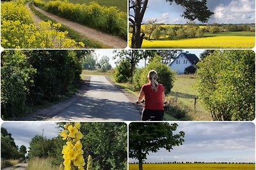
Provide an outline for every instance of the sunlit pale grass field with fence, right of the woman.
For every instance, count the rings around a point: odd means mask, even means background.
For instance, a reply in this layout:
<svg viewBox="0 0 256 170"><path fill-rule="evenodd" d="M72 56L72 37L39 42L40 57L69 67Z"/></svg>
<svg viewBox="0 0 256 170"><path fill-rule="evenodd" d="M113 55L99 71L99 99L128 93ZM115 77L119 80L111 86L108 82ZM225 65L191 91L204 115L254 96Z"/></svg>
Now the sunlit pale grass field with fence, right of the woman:
<svg viewBox="0 0 256 170"><path fill-rule="evenodd" d="M205 110L202 101L199 99L195 103L195 81L196 75L175 75L175 81L173 84L172 92L169 96L166 97L166 100L170 99L177 100L177 106L188 111L188 117L191 120L212 120L210 113Z"/></svg>

